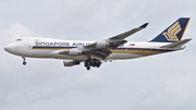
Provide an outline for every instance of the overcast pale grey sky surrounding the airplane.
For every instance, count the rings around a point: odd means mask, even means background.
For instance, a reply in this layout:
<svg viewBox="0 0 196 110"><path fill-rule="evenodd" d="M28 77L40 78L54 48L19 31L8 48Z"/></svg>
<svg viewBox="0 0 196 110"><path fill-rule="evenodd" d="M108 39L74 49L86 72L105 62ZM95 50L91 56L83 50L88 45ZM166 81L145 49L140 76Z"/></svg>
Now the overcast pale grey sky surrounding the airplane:
<svg viewBox="0 0 196 110"><path fill-rule="evenodd" d="M0 110L196 110L195 0L1 0ZM148 41L179 17L191 17L186 49L105 63L86 71L62 60L12 56L16 38L100 40L144 23L128 37Z"/></svg>

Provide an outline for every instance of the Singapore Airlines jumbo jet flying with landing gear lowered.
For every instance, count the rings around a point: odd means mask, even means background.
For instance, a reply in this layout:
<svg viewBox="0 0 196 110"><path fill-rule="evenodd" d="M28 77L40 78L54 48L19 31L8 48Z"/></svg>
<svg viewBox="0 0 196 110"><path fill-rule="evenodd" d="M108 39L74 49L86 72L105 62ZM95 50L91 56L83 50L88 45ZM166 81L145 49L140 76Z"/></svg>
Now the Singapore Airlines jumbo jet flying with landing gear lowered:
<svg viewBox="0 0 196 110"><path fill-rule="evenodd" d="M147 27L148 23L123 34L98 41L75 41L52 38L24 37L4 47L4 50L23 58L49 58L63 60L64 66L84 62L87 70L99 68L103 61L126 60L185 48L192 40L183 39L189 17L180 17L161 34L147 42L127 41L126 37Z"/></svg>

